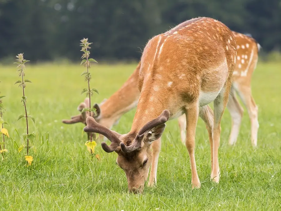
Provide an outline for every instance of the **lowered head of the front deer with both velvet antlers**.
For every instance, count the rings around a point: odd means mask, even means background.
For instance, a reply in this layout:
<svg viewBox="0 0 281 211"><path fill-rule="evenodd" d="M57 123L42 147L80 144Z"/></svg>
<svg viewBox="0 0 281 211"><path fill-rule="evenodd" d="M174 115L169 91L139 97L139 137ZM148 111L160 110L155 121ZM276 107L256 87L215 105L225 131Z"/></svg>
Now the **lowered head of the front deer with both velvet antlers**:
<svg viewBox="0 0 281 211"><path fill-rule="evenodd" d="M151 165L150 145L161 137L166 127L170 112L164 110L157 118L146 123L138 133L121 135L95 121L92 117L86 118L85 132L100 133L111 141L108 146L105 142L101 147L107 153L115 151L118 154L116 163L125 171L130 192L142 192L148 178Z"/></svg>

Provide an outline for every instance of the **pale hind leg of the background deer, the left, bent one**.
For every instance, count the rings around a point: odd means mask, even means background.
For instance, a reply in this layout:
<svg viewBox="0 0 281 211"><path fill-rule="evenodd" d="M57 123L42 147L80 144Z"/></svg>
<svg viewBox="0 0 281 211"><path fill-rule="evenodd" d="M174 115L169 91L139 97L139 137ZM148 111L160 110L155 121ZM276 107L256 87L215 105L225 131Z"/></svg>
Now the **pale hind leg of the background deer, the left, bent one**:
<svg viewBox="0 0 281 211"><path fill-rule="evenodd" d="M236 93L234 88L231 88L231 92L229 94L229 100L227 103L227 108L229 110L231 119L232 119L232 126L231 126L231 132L229 136L229 144L234 145L237 141L237 137L239 134L239 129L242 121L243 116L243 108L239 104Z"/></svg>

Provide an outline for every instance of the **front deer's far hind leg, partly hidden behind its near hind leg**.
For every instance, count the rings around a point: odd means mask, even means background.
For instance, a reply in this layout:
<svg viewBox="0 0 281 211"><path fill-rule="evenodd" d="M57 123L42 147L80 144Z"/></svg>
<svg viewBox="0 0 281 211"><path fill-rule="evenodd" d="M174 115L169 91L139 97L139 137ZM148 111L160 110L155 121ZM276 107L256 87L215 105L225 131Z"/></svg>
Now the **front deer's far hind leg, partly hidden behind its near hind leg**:
<svg viewBox="0 0 281 211"><path fill-rule="evenodd" d="M200 118L205 122L206 128L209 134L210 148L211 148L211 172L213 171L213 138L212 138L212 127L214 122L214 112L210 106L205 105L200 108Z"/></svg>

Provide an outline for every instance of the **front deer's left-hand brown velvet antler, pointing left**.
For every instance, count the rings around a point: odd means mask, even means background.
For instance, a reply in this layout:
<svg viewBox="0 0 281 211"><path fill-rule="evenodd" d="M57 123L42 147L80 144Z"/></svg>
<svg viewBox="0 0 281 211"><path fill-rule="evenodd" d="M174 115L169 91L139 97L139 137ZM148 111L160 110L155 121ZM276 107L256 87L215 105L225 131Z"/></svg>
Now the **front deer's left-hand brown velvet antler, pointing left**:
<svg viewBox="0 0 281 211"><path fill-rule="evenodd" d="M111 153L119 147L120 139L117 136L120 136L119 133L113 132L112 130L100 125L95 121L92 117L86 118L86 124L87 126L84 127L84 131L88 133L100 133L101 135L104 135L106 138L108 138L111 141L111 144L108 146L105 142L101 143L101 147L104 151L107 153Z"/></svg>

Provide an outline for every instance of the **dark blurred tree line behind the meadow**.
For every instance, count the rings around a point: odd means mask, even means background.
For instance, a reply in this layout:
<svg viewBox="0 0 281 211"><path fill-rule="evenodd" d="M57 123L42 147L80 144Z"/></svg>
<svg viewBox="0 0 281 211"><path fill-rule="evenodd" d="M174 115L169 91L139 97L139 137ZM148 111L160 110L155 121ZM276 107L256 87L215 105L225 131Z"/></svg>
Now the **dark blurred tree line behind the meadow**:
<svg viewBox="0 0 281 211"><path fill-rule="evenodd" d="M199 16L281 48L280 0L0 0L0 59L78 61L84 37L93 58L139 59L149 38Z"/></svg>

